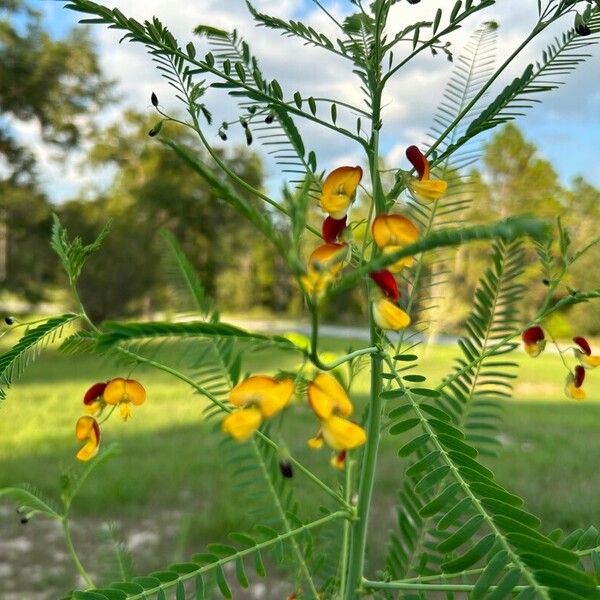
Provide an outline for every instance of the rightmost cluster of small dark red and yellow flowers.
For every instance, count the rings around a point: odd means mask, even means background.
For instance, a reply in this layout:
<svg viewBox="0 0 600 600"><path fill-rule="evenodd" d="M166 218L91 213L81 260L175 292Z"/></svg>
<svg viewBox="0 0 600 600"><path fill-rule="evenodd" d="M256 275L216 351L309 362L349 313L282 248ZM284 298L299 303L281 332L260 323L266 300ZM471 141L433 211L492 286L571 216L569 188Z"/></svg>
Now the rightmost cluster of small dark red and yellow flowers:
<svg viewBox="0 0 600 600"><path fill-rule="evenodd" d="M525 352L533 358L539 356L546 348L546 334L539 325L528 327L523 332L521 339L523 340ZM573 354L579 364L574 369L571 369L567 366L563 357L563 362L568 369L565 380L565 394L573 400L585 400L586 393L583 389L583 383L586 378L586 372L600 365L600 356L592 354L592 348L584 337L574 337L573 342L575 346L572 346L570 349L573 350ZM561 357L566 352L566 350L561 350L558 346L557 349Z"/></svg>

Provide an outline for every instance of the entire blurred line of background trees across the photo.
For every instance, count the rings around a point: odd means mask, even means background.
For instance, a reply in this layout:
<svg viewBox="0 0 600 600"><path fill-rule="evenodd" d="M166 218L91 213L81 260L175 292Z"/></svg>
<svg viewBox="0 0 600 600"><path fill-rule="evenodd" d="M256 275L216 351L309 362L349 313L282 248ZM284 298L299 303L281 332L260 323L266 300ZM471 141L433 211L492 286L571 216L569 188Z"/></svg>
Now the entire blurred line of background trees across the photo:
<svg viewBox="0 0 600 600"><path fill-rule="evenodd" d="M85 29L55 39L26 2L0 0L0 64L0 299L62 301L62 271L48 247L54 212L73 234L87 240L112 220L102 252L80 282L96 319L182 308L164 264L161 229L180 240L207 291L225 310L301 313L302 297L283 261L170 150L148 137L153 125L149 115L130 110L103 128L86 118L113 102L115 90L101 72ZM68 153L85 137L91 142L87 166L102 177L114 174L110 184L53 205L38 181L31 149L12 135L14 119L36 122L58 153ZM168 134L195 145L184 129L173 126ZM264 186L263 165L255 152L246 147L221 152L236 173L256 188ZM583 177L563 185L553 165L515 125L489 141L468 179L473 197L469 217L475 222L523 212L550 219L560 214L576 242L584 244L597 235L600 190ZM312 210L316 219L317 207ZM456 330L466 318L487 251L485 245L470 245L447 257L439 328ZM525 310L533 314L544 287L532 249L529 258ZM594 268L598 258L594 250L576 264L570 282L574 289L600 284ZM347 320L365 308L360 291L332 298L327 307L331 318ZM573 308L555 323L557 333L568 334L569 326L599 333L600 319L589 313L589 308Z"/></svg>

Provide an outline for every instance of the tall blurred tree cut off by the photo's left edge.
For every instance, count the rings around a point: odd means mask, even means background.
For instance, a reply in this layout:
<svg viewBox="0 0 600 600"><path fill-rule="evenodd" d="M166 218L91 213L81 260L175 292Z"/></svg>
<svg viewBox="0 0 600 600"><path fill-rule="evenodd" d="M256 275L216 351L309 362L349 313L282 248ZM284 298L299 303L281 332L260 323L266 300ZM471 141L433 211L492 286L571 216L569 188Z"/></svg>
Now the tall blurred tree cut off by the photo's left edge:
<svg viewBox="0 0 600 600"><path fill-rule="evenodd" d="M36 181L31 148L15 138L12 124L35 123L46 142L66 151L111 86L85 29L53 39L23 0L0 0L0 65L0 285L37 301L57 278L48 251L52 207Z"/></svg>

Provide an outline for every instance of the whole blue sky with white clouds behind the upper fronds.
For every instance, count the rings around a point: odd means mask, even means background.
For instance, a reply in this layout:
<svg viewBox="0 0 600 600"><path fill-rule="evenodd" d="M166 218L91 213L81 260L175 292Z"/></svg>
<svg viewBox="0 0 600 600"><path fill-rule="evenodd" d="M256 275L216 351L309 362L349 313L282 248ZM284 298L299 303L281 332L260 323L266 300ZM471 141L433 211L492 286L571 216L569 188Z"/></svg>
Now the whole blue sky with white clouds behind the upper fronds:
<svg viewBox="0 0 600 600"><path fill-rule="evenodd" d="M324 0L323 4L339 20L353 9L349 0ZM391 27L399 29L417 19L431 19L438 6L448 4L449 0L424 0L418 5L399 2L391 15ZM493 19L500 25L497 62L504 61L534 24L536 4L533 0L498 0L492 9L479 13L453 34L450 39L455 53L460 53L469 35L483 20ZM77 25L79 16L65 10L62 2L33 0L33 5L44 12L47 26L57 36L64 35L73 26L80 26ZM300 90L303 94L315 97L336 96L356 106L362 103L359 82L345 62L329 53L303 47L298 40L282 37L278 32L257 28L243 0L110 0L109 5L139 21L158 16L182 43L194 39L192 30L200 23L228 30L235 27L250 43L263 71L281 83L286 96ZM336 36L337 26L318 9L314 0L255 0L254 5L263 12L281 18L302 18L315 29ZM563 21L555 30L546 32L542 39L532 43L506 71L491 95L519 75L529 62L535 61L551 37L567 29L571 22L570 18ZM158 94L162 105L176 110L173 90L161 80L143 47L130 43L119 44L119 33L102 25L94 25L92 33L104 71L117 81L117 92L121 98L118 106L97 115L98 120L108 124L118 119L121 111L127 107L151 112L149 98L153 91ZM201 42L199 45L201 47ZM400 46L398 54L405 52L406 48ZM527 138L539 147L540 154L553 162L565 184L576 175L584 175L600 186L600 45L592 47L589 54L588 61L576 73L567 76L567 85L544 94L544 102L520 118L518 125ZM433 57L429 53L422 53L392 82L384 98L381 146L390 166L406 168L404 148L413 143L423 145L426 142L427 131L451 71L452 65L443 55ZM212 90L207 97L217 122L235 115L234 105L224 100L221 92ZM344 118L344 115L340 117L342 122ZM350 122L354 123L354 119ZM312 124L299 122L298 125L306 146L314 149L319 156L322 169L364 162L360 148L347 139L336 137ZM13 122L12 127L21 139L35 145L41 182L54 201L60 202L78 193L85 195L96 187L109 184L110 172L83 170L81 156L74 156L67 161L56 160L52 150L40 143L33 124ZM210 133L212 139L218 141L216 130ZM233 141L236 141L235 135ZM239 140L242 140L241 135ZM149 140L148 143L153 142ZM258 148L257 145L254 147ZM267 167L269 187L279 187L281 174L269 162Z"/></svg>

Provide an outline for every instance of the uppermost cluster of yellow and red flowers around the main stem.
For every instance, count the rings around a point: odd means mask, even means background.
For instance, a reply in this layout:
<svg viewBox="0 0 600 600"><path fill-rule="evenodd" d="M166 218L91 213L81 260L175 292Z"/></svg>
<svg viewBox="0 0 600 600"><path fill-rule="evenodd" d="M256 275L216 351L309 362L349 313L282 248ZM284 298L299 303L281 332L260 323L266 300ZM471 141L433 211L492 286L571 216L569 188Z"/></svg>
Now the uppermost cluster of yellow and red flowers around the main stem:
<svg viewBox="0 0 600 600"><path fill-rule="evenodd" d="M415 168L418 178L408 177L406 186L420 202L441 198L447 183L432 179L427 157L416 147L410 146L406 156ZM314 300L321 299L327 288L341 273L350 251L344 241L348 210L356 195L362 178L360 167L340 167L332 171L323 183L320 206L328 213L323 222L322 236L325 244L310 255L306 274L301 277L304 291ZM414 223L399 214L380 214L371 225L373 242L383 255L395 254L414 244L419 232ZM374 271L371 279L382 295L373 304L373 318L382 329L399 331L410 325L409 315L398 305L400 291L394 275L412 266L412 257L403 257L382 271Z"/></svg>

